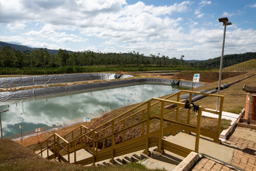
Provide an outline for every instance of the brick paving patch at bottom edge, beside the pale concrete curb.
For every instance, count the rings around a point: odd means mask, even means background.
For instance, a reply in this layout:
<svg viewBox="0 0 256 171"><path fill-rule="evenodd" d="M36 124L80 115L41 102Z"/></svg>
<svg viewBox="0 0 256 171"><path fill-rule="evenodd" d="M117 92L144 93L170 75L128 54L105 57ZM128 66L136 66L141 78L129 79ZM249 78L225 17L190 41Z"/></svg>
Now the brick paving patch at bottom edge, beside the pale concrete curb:
<svg viewBox="0 0 256 171"><path fill-rule="evenodd" d="M197 163L194 168L190 169L191 171L231 171L234 170L232 168L229 168L223 164L217 163L214 160L211 160L209 158L202 158L199 163Z"/></svg>

